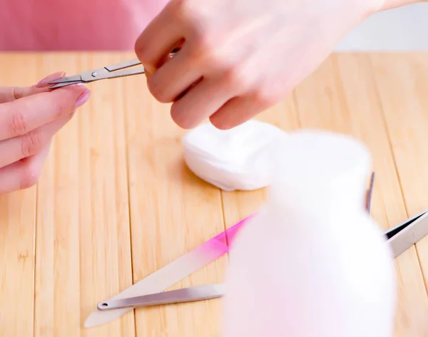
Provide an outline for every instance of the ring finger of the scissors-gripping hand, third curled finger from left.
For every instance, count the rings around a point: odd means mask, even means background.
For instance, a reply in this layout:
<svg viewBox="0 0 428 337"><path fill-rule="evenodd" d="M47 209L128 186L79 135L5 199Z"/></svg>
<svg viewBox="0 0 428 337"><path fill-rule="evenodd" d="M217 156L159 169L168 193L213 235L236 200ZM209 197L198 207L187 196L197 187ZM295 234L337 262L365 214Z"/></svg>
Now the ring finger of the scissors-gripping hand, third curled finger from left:
<svg viewBox="0 0 428 337"><path fill-rule="evenodd" d="M231 99L232 90L225 79L203 79L171 106L171 117L183 129L191 129Z"/></svg>

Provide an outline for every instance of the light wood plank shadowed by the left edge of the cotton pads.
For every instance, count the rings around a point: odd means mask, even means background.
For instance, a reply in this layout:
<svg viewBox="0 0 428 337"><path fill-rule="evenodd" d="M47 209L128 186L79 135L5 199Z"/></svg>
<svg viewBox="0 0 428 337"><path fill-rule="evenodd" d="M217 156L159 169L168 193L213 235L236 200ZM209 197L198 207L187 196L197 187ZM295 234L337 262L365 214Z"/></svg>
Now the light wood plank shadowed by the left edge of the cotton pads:
<svg viewBox="0 0 428 337"><path fill-rule="evenodd" d="M143 78L123 81L127 122L133 281L224 231L220 191L185 167L181 136L162 106L144 90ZM136 99L138 98L138 99ZM223 279L226 257L178 286ZM220 300L136 309L137 336L218 336Z"/></svg>

